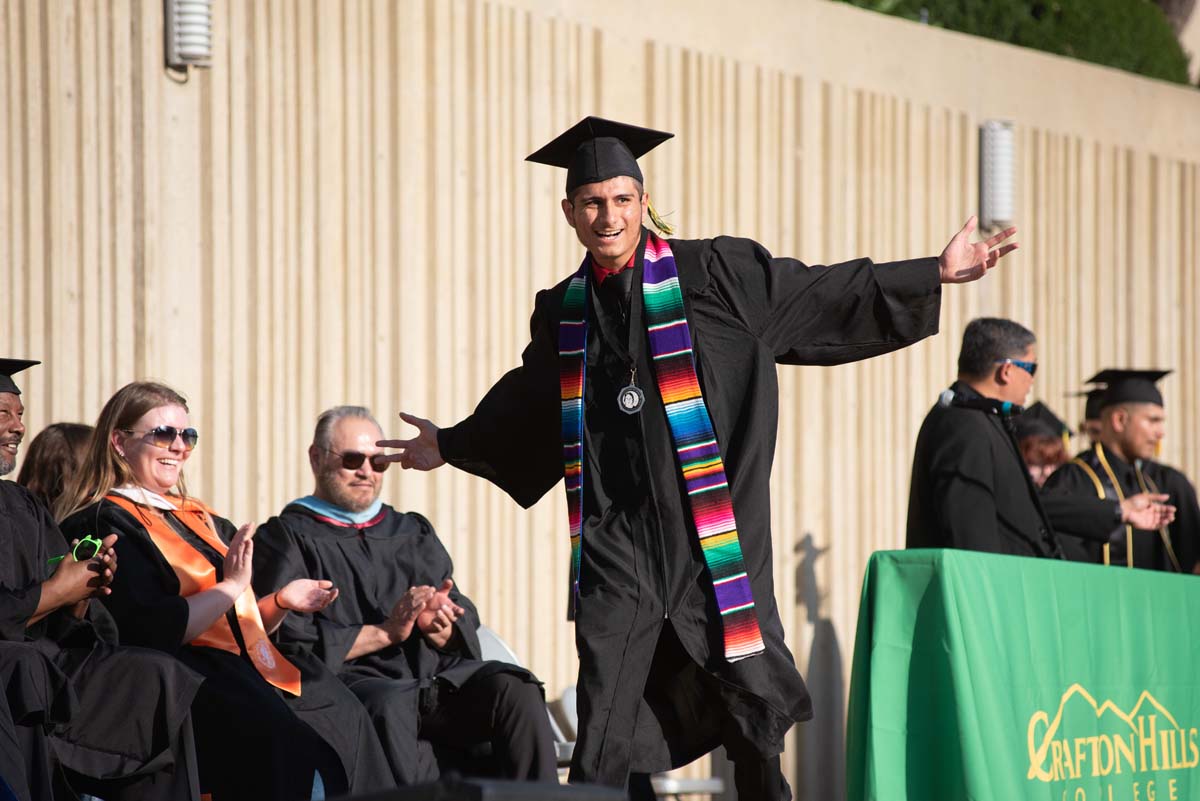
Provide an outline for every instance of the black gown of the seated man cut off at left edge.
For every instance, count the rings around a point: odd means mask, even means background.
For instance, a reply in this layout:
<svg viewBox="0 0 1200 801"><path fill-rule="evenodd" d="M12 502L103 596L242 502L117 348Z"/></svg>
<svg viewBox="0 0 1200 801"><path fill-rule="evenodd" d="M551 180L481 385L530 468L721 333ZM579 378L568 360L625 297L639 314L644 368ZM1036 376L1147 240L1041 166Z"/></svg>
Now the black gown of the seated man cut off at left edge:
<svg viewBox="0 0 1200 801"><path fill-rule="evenodd" d="M34 763L20 797L47 797L50 763L76 790L106 799L197 797L188 709L200 676L161 654L102 642L97 632L113 626L95 601L84 620L59 610L28 626L48 559L66 550L46 506L0 481L0 682Z"/></svg>

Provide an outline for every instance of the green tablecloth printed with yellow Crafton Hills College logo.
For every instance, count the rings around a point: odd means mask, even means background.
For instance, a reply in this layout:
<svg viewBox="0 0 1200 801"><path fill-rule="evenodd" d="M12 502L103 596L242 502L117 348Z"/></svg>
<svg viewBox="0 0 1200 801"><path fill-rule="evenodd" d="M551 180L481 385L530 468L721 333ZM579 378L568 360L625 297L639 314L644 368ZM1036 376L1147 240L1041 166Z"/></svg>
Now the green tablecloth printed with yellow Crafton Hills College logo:
<svg viewBox="0 0 1200 801"><path fill-rule="evenodd" d="M1200 801L1200 577L871 556L847 795Z"/></svg>

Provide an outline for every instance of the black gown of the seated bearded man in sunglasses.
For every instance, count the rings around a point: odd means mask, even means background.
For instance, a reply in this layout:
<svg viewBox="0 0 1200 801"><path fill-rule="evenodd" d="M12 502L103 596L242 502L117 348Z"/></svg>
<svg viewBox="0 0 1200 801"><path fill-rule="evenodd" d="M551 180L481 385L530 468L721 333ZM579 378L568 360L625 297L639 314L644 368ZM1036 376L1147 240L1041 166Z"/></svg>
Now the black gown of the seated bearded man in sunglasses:
<svg viewBox="0 0 1200 801"><path fill-rule="evenodd" d="M383 624L409 588L439 586L452 577L454 562L433 525L388 505L367 524L342 525L290 504L254 536L257 592L275 592L296 578L329 579L338 589L337 601L320 613L288 615L276 639L284 654L305 652L324 662L359 695L402 784L436 779L439 759L470 772L469 759L456 760L456 754L443 751L470 743L454 742L452 733L439 731L436 749L428 733L421 731L421 718L437 707L439 692L455 692L472 679L497 673L538 683L523 668L481 660L479 613L457 584L450 598L464 612L446 650L416 636L346 658L362 626ZM544 718L540 692L534 695Z"/></svg>

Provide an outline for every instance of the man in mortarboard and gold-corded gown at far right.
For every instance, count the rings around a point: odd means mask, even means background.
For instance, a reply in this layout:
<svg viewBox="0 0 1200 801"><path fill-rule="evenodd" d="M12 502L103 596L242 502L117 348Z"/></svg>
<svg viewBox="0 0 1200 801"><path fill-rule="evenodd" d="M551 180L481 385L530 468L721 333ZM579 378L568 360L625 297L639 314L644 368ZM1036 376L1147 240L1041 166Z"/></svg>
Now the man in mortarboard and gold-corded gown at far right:
<svg viewBox="0 0 1200 801"><path fill-rule="evenodd" d="M1097 373L1088 383L1106 385L1099 401L1099 440L1050 476L1045 493L1115 500L1148 493L1144 496L1174 507L1174 520L1153 530L1117 524L1105 543L1064 538L1068 558L1184 573L1195 568L1200 555L1195 489L1174 468L1151 462L1166 421L1157 383L1169 373L1136 369Z"/></svg>

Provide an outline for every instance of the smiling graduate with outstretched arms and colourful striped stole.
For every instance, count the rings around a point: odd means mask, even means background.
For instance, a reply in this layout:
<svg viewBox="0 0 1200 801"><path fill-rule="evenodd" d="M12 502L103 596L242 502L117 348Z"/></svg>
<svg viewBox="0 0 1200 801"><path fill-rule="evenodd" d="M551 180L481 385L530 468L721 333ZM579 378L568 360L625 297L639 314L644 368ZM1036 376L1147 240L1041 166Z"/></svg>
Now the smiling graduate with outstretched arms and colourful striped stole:
<svg viewBox="0 0 1200 801"><path fill-rule="evenodd" d="M768 480L776 363L839 365L937 331L941 284L982 277L1014 233L941 257L809 266L757 242L666 240L636 158L672 134L588 118L529 156L566 168L587 249L539 293L522 365L458 424L419 427L406 468L446 462L532 506L565 477L580 656L572 782L653 797L649 773L724 745L743 799L787 799L784 735L812 715L784 643Z"/></svg>

